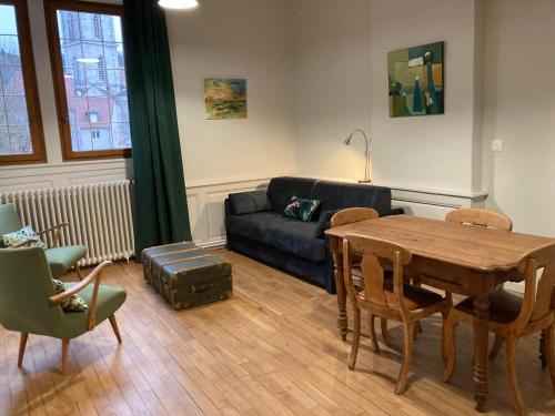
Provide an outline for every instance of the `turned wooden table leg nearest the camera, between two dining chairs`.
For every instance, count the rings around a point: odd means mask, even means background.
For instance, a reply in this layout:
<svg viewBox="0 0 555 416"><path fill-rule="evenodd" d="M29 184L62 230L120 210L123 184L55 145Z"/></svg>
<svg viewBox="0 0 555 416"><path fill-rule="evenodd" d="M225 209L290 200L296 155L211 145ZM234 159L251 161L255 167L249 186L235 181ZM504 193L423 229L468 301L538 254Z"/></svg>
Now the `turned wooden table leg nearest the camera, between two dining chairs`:
<svg viewBox="0 0 555 416"><path fill-rule="evenodd" d="M487 402L487 337L490 334L490 297L474 297L474 400L476 410L485 412Z"/></svg>

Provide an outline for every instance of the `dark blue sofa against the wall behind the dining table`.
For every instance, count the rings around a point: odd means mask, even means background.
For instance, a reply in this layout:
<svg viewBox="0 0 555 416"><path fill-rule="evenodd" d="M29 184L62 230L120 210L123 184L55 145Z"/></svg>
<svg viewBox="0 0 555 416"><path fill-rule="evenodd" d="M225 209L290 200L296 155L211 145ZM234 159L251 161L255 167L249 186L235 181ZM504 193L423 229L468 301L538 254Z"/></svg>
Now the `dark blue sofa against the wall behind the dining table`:
<svg viewBox="0 0 555 416"><path fill-rule="evenodd" d="M321 201L315 221L283 215L292 196ZM389 187L274 177L266 190L230 194L225 200L228 248L287 271L335 293L333 260L324 231L332 215L345 207L370 206L381 216L392 210Z"/></svg>

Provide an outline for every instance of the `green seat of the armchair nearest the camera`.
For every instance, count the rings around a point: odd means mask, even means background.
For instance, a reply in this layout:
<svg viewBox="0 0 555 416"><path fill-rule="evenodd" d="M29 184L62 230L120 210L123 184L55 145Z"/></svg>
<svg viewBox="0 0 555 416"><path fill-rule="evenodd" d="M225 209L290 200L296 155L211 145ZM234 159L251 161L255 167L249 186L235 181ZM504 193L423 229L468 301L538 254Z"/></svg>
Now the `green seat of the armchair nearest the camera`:
<svg viewBox="0 0 555 416"><path fill-rule="evenodd" d="M67 288L75 285L75 282L65 283ZM94 285L89 285L81 292L79 296L90 306L92 302L92 291ZM100 285L99 294L97 297L97 325L105 321L109 316L113 315L125 302L127 293L123 288ZM88 331L89 311L85 312L65 312L64 323L61 327L57 328L56 336L62 339L75 338Z"/></svg>

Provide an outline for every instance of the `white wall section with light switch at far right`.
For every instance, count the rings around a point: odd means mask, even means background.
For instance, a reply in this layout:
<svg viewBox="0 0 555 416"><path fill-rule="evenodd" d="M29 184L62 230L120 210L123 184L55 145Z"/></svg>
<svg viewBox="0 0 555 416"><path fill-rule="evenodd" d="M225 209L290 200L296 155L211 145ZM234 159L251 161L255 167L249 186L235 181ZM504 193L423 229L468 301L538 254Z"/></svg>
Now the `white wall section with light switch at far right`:
<svg viewBox="0 0 555 416"><path fill-rule="evenodd" d="M555 235L555 2L487 0L484 184L515 230ZM493 153L491 141L503 140Z"/></svg>

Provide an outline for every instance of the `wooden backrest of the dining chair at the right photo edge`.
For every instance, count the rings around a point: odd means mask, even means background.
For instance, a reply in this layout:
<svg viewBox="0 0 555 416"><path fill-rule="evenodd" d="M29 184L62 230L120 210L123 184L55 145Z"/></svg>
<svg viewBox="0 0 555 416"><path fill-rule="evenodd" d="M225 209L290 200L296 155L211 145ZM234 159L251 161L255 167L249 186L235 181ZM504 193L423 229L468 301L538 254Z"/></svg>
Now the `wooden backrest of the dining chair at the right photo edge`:
<svg viewBox="0 0 555 416"><path fill-rule="evenodd" d="M531 251L521 258L519 267L524 270L524 301L521 314L515 321L519 329L529 322L542 319L554 313L552 303L555 287L554 266L555 243ZM542 274L537 281L539 270Z"/></svg>

